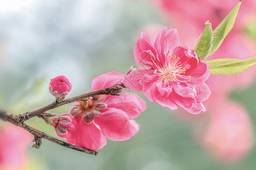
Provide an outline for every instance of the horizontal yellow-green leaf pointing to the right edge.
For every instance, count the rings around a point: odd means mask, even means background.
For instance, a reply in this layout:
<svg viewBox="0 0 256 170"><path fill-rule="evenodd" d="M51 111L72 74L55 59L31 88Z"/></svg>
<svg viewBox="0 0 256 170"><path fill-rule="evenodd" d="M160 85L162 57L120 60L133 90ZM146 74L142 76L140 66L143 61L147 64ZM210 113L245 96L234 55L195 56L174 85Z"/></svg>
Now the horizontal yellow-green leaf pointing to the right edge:
<svg viewBox="0 0 256 170"><path fill-rule="evenodd" d="M256 57L240 60L234 58L219 58L207 61L210 66L210 74L233 75L241 73L256 63Z"/></svg>

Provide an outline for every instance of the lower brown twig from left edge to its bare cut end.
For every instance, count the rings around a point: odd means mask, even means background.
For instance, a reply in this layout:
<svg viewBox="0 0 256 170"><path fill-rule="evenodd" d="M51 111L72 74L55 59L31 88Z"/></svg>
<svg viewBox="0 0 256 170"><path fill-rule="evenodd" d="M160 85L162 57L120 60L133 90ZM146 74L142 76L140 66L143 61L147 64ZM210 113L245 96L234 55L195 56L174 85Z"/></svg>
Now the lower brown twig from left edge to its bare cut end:
<svg viewBox="0 0 256 170"><path fill-rule="evenodd" d="M51 141L53 143L56 143L57 145L64 146L67 148L71 148L72 150L84 152L85 154L90 155L97 155L97 151L88 150L86 148L81 148L75 145L71 145L67 142L60 141L59 139L53 138L50 135L43 133L40 130L37 130L35 128L32 128L31 126L26 125L24 122L19 121L19 116L11 113L7 113L5 110L0 108L0 119L3 121L10 122L11 124L15 126L19 126L20 128L23 128L27 130L29 133L34 135L34 141L35 144L32 146L34 148L40 148L40 145L42 145L42 138L47 139L48 141Z"/></svg>

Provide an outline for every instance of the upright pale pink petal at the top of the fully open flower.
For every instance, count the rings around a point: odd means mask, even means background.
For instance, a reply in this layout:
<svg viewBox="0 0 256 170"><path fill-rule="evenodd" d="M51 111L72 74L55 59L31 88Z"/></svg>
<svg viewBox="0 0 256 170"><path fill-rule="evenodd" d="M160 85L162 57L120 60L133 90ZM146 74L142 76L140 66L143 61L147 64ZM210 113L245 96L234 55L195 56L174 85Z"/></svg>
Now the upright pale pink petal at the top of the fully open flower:
<svg viewBox="0 0 256 170"><path fill-rule="evenodd" d="M166 63L168 57L168 50L172 53L176 46L179 46L179 34L177 29L169 29L167 27L163 28L155 39L154 46L158 53L160 63Z"/></svg>

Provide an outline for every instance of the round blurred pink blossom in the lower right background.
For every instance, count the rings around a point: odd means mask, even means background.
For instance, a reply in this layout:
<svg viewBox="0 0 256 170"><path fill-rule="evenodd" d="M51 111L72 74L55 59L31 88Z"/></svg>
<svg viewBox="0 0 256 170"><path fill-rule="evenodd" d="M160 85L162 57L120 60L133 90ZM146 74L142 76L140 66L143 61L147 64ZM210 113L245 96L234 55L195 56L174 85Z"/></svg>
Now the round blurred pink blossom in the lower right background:
<svg viewBox="0 0 256 170"><path fill-rule="evenodd" d="M209 123L200 128L200 145L221 162L243 158L253 146L251 121L245 109L225 102L211 112Z"/></svg>

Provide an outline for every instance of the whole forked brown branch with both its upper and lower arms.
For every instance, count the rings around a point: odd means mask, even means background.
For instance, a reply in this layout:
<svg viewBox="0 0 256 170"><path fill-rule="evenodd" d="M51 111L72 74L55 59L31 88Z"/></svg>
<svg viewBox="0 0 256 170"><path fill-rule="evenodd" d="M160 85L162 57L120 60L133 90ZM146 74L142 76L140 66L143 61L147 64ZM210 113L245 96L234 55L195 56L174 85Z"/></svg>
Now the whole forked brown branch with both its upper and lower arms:
<svg viewBox="0 0 256 170"><path fill-rule="evenodd" d="M24 123L24 121L26 121L32 117L38 116L38 117L43 117L44 121L48 122L46 116L51 117L53 114L45 113L46 111L60 107L61 105L65 105L65 104L73 103L75 101L80 101L82 99L86 99L87 97L92 97L92 96L97 96L97 95L119 96L122 93L123 88L126 88L123 85L123 83L116 84L115 86L106 87L106 88L92 91L92 92L85 92L81 95L70 97L68 99L61 101L60 103L57 103L57 101L55 101L51 104L46 105L45 107L36 109L35 111L18 114L18 115L7 113L5 110L0 108L0 119L2 119L3 121L10 122L11 124L13 124L15 126L19 126L20 128L23 128L23 129L27 130L29 133L31 133L32 135L34 135L33 142L35 142L35 144L32 146L34 148L40 148L40 146L42 145L42 138L44 138L44 139L47 139L48 141L56 143L57 145L60 145L60 146L71 148L73 150L84 152L86 154L97 155L98 154L97 151L88 150L86 148L81 148L81 147L78 147L75 145L71 145L67 142L60 141L59 139L53 138L50 135L43 133L42 131L40 131L38 129L28 126L27 124ZM51 122L48 122L48 124L51 124Z"/></svg>

